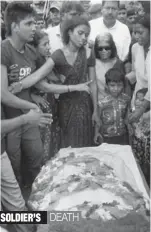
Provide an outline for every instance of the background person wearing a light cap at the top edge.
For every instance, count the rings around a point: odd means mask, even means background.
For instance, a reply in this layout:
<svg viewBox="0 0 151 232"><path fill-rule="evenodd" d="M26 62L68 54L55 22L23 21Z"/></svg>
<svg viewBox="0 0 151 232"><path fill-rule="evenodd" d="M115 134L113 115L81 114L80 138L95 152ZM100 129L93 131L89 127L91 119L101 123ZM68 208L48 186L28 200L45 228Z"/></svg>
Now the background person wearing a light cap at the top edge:
<svg viewBox="0 0 151 232"><path fill-rule="evenodd" d="M49 17L47 21L47 28L55 27L60 23L60 9L61 3L54 1L50 5Z"/></svg>

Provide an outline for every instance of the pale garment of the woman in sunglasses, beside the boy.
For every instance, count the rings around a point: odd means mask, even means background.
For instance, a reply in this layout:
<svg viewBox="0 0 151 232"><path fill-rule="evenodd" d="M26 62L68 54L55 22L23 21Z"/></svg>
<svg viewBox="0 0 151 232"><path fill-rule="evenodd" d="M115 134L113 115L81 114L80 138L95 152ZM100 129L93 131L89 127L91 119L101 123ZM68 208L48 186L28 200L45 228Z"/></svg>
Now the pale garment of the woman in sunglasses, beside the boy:
<svg viewBox="0 0 151 232"><path fill-rule="evenodd" d="M111 69L114 66L115 62L115 59L109 62L102 62L101 60L96 59L95 68L98 87L98 101L101 101L101 99L105 96L105 74L109 69Z"/></svg>

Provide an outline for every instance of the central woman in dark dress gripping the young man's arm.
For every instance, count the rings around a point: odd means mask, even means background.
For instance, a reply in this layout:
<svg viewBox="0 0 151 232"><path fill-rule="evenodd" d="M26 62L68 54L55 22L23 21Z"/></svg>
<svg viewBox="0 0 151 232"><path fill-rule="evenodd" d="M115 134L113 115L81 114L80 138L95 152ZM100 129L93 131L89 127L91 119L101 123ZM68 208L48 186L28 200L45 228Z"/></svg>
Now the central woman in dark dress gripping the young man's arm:
<svg viewBox="0 0 151 232"><path fill-rule="evenodd" d="M64 47L56 50L39 70L21 83L23 89L29 88L35 79L38 81L47 76L53 68L66 77L63 87L67 86L67 91L59 97L62 147L92 146L92 124L98 123L95 57L93 51L85 48L89 33L90 25L85 18L75 16L66 19L62 24ZM88 82L91 95L82 88L73 91L74 86L88 80L92 81Z"/></svg>

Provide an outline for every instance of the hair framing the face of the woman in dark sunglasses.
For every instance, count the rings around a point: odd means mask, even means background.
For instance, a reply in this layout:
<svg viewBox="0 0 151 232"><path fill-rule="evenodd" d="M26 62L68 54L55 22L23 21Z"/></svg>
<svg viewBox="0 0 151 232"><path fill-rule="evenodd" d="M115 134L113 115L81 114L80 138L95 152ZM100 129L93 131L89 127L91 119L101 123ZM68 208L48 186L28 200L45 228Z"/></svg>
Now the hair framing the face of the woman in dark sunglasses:
<svg viewBox="0 0 151 232"><path fill-rule="evenodd" d="M110 44L111 47L111 59L114 57L117 57L117 49L113 40L113 37L110 33L106 33L106 35L108 35L108 43ZM105 35L104 35L105 36ZM94 52L95 52L95 57L97 59L100 59L100 55L99 55L99 51L98 51L98 47L99 47L99 38L100 35L98 35L95 39L95 43L94 43Z"/></svg>

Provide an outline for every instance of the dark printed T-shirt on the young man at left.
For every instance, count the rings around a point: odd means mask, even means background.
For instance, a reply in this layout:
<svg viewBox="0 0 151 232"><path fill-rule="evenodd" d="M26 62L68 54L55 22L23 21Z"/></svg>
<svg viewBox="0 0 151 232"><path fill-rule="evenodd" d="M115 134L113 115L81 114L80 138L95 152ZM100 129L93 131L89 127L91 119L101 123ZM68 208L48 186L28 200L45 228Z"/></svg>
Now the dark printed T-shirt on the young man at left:
<svg viewBox="0 0 151 232"><path fill-rule="evenodd" d="M10 68L12 65L18 65L19 69L19 78L18 81L21 81L31 73L36 70L36 60L37 52L29 44L25 45L24 53L18 52L10 43L8 39L2 41L1 43L1 64L7 67L7 73L10 73ZM10 81L8 76L8 85L13 83ZM19 98L22 98L27 101L32 101L30 97L30 89L22 90L17 94ZM5 107L6 117L13 118L21 115L24 110L19 110L11 107Z"/></svg>

